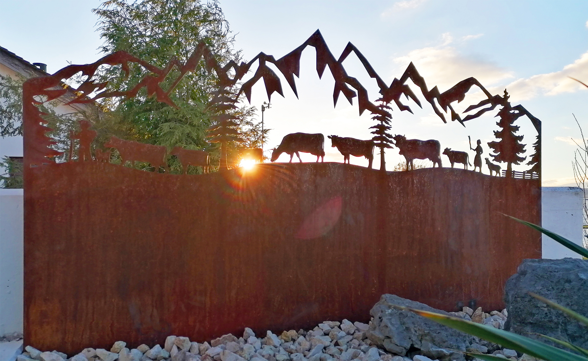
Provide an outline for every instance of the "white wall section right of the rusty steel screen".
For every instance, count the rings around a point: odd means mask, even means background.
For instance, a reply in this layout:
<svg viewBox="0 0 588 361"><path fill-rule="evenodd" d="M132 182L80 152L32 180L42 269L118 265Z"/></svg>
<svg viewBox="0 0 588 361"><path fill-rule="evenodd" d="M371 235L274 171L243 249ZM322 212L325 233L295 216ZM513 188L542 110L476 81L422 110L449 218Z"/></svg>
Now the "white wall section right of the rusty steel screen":
<svg viewBox="0 0 588 361"><path fill-rule="evenodd" d="M582 203L584 193L578 187L543 187L541 206L543 228L582 246ZM580 255L542 236L543 258L581 258Z"/></svg>

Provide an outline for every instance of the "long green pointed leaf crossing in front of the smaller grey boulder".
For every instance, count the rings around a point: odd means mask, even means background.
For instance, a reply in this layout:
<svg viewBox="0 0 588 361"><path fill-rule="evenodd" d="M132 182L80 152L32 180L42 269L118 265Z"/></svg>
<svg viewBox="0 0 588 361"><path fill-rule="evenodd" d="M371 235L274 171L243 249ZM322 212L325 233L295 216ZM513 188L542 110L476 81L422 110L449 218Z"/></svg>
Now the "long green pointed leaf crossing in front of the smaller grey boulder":
<svg viewBox="0 0 588 361"><path fill-rule="evenodd" d="M477 336L481 339L502 345L503 347L537 357L538 359L546 361L588 361L588 357L576 355L575 353L546 345L545 343L530 339L529 337L517 335L516 333L495 329L492 326L481 325L480 323L466 321L456 317L445 316L439 313L412 309L409 307L396 307L398 309L414 312L417 315L426 317L427 319L433 320L442 325L452 327L453 329L469 333L469 335Z"/></svg>

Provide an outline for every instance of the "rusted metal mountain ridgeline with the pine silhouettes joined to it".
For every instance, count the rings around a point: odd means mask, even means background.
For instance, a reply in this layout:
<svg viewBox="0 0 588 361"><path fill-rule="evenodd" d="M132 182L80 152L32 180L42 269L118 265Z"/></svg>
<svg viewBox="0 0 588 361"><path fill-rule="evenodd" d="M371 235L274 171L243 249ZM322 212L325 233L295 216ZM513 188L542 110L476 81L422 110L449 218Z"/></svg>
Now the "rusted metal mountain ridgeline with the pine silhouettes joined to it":
<svg viewBox="0 0 588 361"><path fill-rule="evenodd" d="M340 93L343 93L350 103L352 103L353 98L358 97L359 114L361 115L363 111L367 109L374 115L374 119L380 121L380 124L372 127L372 129L376 129L373 131L373 133L375 133L374 138L378 138L379 140L377 141L382 142L380 144L382 169L385 169L383 150L385 148L389 148L391 143L386 141L386 139L389 140L390 138L386 133L386 131L390 129L390 125L389 123L386 123L386 120L389 121L389 119L392 118L389 112L389 110L392 110L392 108L390 108L388 104L390 102L394 102L401 111L412 112L409 106L403 104L400 101L400 96L405 95L407 98L412 99L417 103L417 105L422 107L419 99L406 83L409 79L420 88L420 91L425 97L426 101L430 103L437 116L439 116L443 122L447 122L446 115L443 112L449 112L450 119L452 119L452 121L459 121L463 125L464 122L477 118L482 113L490 109L494 109L496 105L501 104L505 106L505 101L503 101L502 97L497 95L492 96L475 78L467 78L463 81L460 81L445 92L440 92L436 86L429 90L425 79L420 76L413 63L410 63L409 66L407 66L406 71L403 73L400 79L395 78L392 83L387 86L386 83L383 82L382 78L380 78L380 76L377 75L377 73L374 71L365 56L363 56L363 54L353 44L348 43L342 54L338 59L336 59L335 56L333 56L330 52L325 40L320 34L320 31L316 31L302 45L298 46L298 48L289 54L286 54L282 58L279 58L278 60L276 60L272 55L266 55L263 52L260 52L248 63L242 62L237 64L234 61L229 61L224 66L219 65L215 56L208 49L204 42L201 42L198 44L198 46L196 46L195 51L189 57L186 63L182 63L178 61L178 59L173 58L168 63L168 65L165 66L165 68L158 68L156 66L150 65L149 63L141 61L141 59L135 58L126 52L116 52L111 55L107 55L92 64L70 65L64 69L61 69L54 75L29 79L27 82L25 82L23 92L25 99L24 118L25 128L29 129L28 133L30 135L25 140L25 148L30 149L29 155L25 157L29 159L28 161L25 160L25 166L49 163L51 162L52 158L61 154L61 152L55 151L55 149L51 149L55 142L45 134L51 129L48 129L45 126L46 122L44 122L41 114L33 103L35 102L34 96L44 96L44 101L50 101L52 99L58 98L61 95L64 95L65 89L55 89L56 86L60 85L62 79L67 79L80 71L83 73L83 75L88 76L86 81L83 82L82 85L78 88L79 96L72 101L69 101L68 104L92 102L96 99L108 97L131 98L132 96L135 96L141 90L141 88L145 87L148 96L155 96L158 101L168 103L170 106L176 106L169 98L169 93L173 90L175 85L181 81L187 72L195 71L195 69L199 66L200 60L203 59L206 71L215 71L216 75L218 76L218 81L216 83L218 91L213 93L215 98L212 99L208 105L208 110L216 114L213 115L211 119L218 123L209 129L209 136L212 142L221 143L220 169L226 169L226 147L228 146L228 143L241 140L238 137L238 132L236 132L234 129L236 123L233 122L232 119L235 118L232 118L232 116L227 112L230 111L230 109L235 108L235 103L238 101L237 99L241 93L244 93L246 98L248 98L250 101L252 86L255 85L255 83L260 79L263 79L265 83L268 99L271 98L273 92L278 92L280 95L283 95L280 79L276 73L268 67L267 63L273 63L276 68L282 72L286 78L286 81L288 81L290 88L292 88L295 95L298 96L294 75L297 77L299 76L300 56L306 46L313 46L316 50L316 69L319 78L322 77L326 66L329 66L329 70L335 79L333 103L336 105ZM367 90L359 83L358 79L353 78L346 73L345 68L343 67L343 61L345 61L345 59L352 52L358 57L359 61L362 62L362 65L368 72L369 76L376 80L376 83L380 88L380 95L382 95L381 98L378 99L378 101L381 102L380 105L375 105L374 103L370 102ZM236 83L243 78L243 76L250 70L253 63L255 62L258 62L258 68L256 69L252 78L250 78L248 81L245 81L236 94L232 93L230 89L236 87ZM108 91L105 90L106 83L95 83L91 79L96 69L100 65L121 65L122 70L128 73L129 63L138 63L148 71L148 75L144 76L143 79L132 88L124 91ZM161 88L161 83L171 72L172 68L179 69L179 76L175 79L175 81L173 81L172 85L167 90L164 90ZM467 115L462 119L461 116L453 109L452 103L455 101L463 101L466 93L474 85L479 87L482 92L485 93L488 99L485 99L485 101L480 102L478 105L470 106L466 109L466 112L485 104L490 104L491 107L482 109L482 111L479 111L475 115ZM95 95L93 95L92 98L89 98L88 96L92 93L95 93ZM513 106L510 109L529 116L533 122L533 125L537 129L537 132L539 133L537 136L537 142L535 144L536 153L532 156L532 161L527 163L529 165L534 165L532 168L534 171L539 171L540 121L539 119L530 115L530 113L520 105Z"/></svg>

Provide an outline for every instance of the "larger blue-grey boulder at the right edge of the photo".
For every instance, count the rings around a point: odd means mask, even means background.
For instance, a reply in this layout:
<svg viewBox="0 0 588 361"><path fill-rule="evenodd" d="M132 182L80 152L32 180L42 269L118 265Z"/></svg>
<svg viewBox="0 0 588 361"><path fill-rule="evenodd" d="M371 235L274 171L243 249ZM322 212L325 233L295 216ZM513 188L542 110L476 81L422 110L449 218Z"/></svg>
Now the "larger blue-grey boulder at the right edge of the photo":
<svg viewBox="0 0 588 361"><path fill-rule="evenodd" d="M586 326L532 298L528 291L588 316L587 261L575 258L523 260L517 273L506 282L508 319L505 329L542 342L547 341L532 333L542 333L588 348Z"/></svg>

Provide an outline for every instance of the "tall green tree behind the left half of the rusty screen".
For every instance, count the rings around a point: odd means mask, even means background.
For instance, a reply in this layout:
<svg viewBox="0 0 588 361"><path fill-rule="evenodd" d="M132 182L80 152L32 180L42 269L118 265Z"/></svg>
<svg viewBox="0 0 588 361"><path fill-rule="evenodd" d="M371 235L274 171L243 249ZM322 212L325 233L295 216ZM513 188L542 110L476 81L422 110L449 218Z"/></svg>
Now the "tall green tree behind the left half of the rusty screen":
<svg viewBox="0 0 588 361"><path fill-rule="evenodd" d="M203 41L220 64L241 59L240 51L233 48L234 36L218 1L109 0L93 12L99 16L98 29L105 41L100 49L105 54L123 50L165 68L175 59L185 63L198 43ZM203 59L199 65L195 72L187 73L169 94L178 108L148 98L143 89L133 99L106 101L104 104L112 111L103 120L102 128L112 128L126 139L169 148L206 148L211 152L214 164L219 152L218 146L206 141L206 129L213 123L210 119L213 113L208 111L207 105L212 99L211 93L218 90L218 77L215 72L207 71ZM120 90L134 86L148 73L138 64L131 66L129 71L129 76L125 77L118 66L101 69L97 81L108 81L109 88ZM170 86L178 74L176 66L164 86ZM238 118L237 123L243 123L253 111L254 108L244 106L229 113ZM172 170L176 168L173 162L172 159Z"/></svg>

